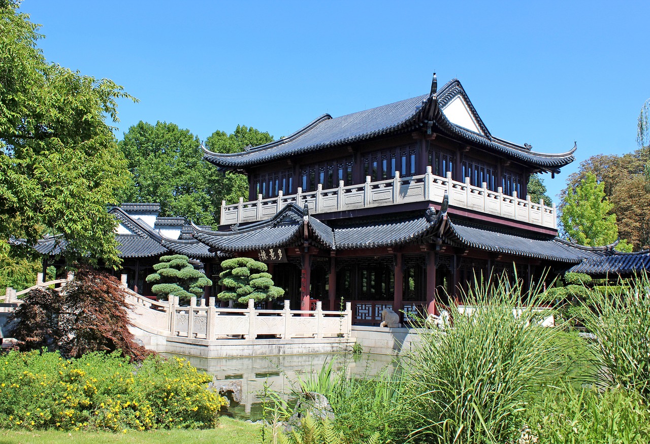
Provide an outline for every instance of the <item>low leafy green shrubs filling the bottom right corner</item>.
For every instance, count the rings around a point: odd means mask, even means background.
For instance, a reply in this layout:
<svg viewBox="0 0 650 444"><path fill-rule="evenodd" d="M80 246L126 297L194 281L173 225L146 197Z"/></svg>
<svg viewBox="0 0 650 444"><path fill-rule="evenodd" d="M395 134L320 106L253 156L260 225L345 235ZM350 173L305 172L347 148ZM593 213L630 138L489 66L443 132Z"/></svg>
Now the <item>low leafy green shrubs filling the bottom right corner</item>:
<svg viewBox="0 0 650 444"><path fill-rule="evenodd" d="M650 442L650 410L623 388L599 393L563 384L546 389L528 413L539 444Z"/></svg>

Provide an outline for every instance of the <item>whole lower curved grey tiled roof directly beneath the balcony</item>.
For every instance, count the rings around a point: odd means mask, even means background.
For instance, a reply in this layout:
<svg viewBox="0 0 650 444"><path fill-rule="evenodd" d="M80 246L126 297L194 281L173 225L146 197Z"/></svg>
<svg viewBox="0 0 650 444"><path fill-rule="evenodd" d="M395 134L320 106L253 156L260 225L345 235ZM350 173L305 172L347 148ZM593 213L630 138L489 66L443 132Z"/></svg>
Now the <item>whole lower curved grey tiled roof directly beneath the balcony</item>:
<svg viewBox="0 0 650 444"><path fill-rule="evenodd" d="M446 208L437 213L430 208L415 216L330 227L314 216L303 216L302 208L296 204L288 204L272 219L242 228L235 227L232 231L215 232L196 226L193 229L195 238L214 249L229 253L297 247L304 245L305 241L323 249L348 250L425 243L437 238L458 247L568 264L578 264L586 258L596 258L613 251L613 245L581 247L552 236L474 225L461 219L452 221Z"/></svg>

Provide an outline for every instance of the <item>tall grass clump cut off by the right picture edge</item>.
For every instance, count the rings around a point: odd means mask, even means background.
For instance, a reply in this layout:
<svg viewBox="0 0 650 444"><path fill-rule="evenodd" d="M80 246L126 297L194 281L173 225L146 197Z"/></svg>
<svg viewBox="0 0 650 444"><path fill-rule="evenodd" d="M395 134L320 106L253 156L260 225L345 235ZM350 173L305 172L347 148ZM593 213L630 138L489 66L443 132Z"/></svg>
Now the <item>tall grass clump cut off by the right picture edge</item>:
<svg viewBox="0 0 650 444"><path fill-rule="evenodd" d="M650 401L650 281L646 273L631 286L595 292L585 325L598 338L601 378L634 390Z"/></svg>

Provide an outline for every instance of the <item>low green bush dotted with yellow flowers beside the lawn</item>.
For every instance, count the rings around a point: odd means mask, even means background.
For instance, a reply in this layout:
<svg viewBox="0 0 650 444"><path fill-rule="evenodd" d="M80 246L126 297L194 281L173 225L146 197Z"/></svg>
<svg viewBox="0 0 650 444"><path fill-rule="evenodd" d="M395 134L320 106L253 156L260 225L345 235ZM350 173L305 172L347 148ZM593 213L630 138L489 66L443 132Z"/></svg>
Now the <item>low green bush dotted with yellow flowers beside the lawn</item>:
<svg viewBox="0 0 650 444"><path fill-rule="evenodd" d="M121 352L66 360L53 352L0 356L0 427L151 430L216 425L226 404L210 375L181 358L130 364Z"/></svg>

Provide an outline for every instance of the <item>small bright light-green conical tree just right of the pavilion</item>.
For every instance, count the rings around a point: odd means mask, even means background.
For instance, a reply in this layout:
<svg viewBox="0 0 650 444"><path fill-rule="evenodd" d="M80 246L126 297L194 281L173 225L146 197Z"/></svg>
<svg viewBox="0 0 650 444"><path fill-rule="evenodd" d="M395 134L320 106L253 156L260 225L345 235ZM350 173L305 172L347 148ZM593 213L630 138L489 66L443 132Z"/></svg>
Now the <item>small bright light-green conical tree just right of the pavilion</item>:
<svg viewBox="0 0 650 444"><path fill-rule="evenodd" d="M562 228L564 234L580 245L596 247L612 243L618 238L614 206L604 193L595 175L588 173L575 190L569 190L562 201Z"/></svg>

